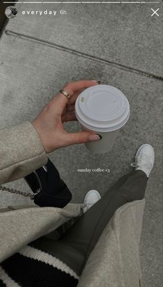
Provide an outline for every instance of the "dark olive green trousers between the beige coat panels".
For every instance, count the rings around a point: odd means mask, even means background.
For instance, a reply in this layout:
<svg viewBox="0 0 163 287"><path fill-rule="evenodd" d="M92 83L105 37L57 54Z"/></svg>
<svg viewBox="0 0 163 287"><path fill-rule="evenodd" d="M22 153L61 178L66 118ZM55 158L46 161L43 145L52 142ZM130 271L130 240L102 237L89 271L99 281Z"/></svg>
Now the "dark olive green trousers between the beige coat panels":
<svg viewBox="0 0 163 287"><path fill-rule="evenodd" d="M81 275L90 252L114 212L125 203L144 198L147 179L140 170L119 178L58 241L41 238L35 241L34 246L50 252Z"/></svg>

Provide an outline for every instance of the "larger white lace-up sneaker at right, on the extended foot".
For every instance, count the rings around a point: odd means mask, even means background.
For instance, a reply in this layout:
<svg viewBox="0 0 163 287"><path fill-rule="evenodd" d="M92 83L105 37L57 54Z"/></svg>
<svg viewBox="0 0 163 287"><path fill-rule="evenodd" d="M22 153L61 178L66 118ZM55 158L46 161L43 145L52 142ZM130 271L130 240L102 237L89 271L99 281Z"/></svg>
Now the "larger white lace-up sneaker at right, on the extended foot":
<svg viewBox="0 0 163 287"><path fill-rule="evenodd" d="M135 167L135 170L142 170L148 177L153 169L155 161L155 152L151 145L141 145L137 150L135 156L135 163L131 163L131 167Z"/></svg>

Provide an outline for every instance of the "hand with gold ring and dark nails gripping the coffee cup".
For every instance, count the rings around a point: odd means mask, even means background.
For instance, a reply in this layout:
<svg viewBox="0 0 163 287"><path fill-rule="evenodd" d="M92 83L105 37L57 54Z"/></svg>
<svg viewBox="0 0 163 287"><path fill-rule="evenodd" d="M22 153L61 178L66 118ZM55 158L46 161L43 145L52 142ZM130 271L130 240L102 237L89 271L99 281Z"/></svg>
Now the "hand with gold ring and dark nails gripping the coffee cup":
<svg viewBox="0 0 163 287"><path fill-rule="evenodd" d="M100 140L100 137L92 131L68 133L63 127L64 122L77 120L74 111L75 101L81 91L98 83L97 80L82 80L66 84L64 91L72 95L70 100L62 93L57 94L32 122L46 153L67 145Z"/></svg>

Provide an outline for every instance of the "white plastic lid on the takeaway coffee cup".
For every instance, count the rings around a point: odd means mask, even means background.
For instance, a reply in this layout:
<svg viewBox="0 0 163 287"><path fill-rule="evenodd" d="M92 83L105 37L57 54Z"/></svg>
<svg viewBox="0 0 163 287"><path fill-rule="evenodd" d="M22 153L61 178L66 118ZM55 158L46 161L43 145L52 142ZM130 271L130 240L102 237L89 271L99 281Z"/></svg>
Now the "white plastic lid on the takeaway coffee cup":
<svg viewBox="0 0 163 287"><path fill-rule="evenodd" d="M93 131L120 129L130 116L125 95L114 86L101 84L82 92L75 103L77 120Z"/></svg>

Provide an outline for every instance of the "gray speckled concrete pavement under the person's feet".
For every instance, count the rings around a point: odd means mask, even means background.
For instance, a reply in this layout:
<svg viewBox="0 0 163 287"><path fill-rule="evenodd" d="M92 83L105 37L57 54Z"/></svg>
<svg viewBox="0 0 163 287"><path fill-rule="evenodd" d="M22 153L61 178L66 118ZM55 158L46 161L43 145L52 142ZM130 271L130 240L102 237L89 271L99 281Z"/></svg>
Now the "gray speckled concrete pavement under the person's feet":
<svg viewBox="0 0 163 287"><path fill-rule="evenodd" d="M131 170L135 151L144 142L155 149L155 167L146 189L141 241L144 286L162 286L162 8L160 4L17 4L0 47L1 128L30 120L65 82L99 79L122 90L131 118L113 150L90 154L84 145L50 154L61 177L81 203L89 189L104 194ZM66 5L66 6L65 6ZM160 17L151 8L160 7ZM66 16L59 10L66 10ZM22 15L23 10L57 10L56 17ZM152 76L153 75L153 76ZM77 122L66 124L77 131ZM79 168L109 168L111 173L80 173ZM8 183L29 191L23 179ZM1 206L30 203L0 193Z"/></svg>

